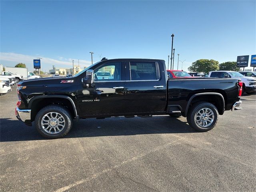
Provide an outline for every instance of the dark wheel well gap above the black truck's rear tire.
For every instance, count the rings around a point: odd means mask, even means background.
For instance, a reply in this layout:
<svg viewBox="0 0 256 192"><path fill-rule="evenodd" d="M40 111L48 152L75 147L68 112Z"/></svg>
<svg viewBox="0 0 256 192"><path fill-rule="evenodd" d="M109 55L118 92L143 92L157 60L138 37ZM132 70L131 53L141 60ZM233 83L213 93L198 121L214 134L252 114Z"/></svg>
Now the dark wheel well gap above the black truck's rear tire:
<svg viewBox="0 0 256 192"><path fill-rule="evenodd" d="M218 109L218 113L220 114L220 115L222 115L223 114L223 111L224 111L224 109L223 109L223 101L222 101L222 98L221 98L221 96L220 95L199 95L199 96L196 96L196 97L194 97L192 100L191 100L191 102L190 102L190 104L189 104L189 108L193 105L193 104L195 104L195 103L197 103L197 102L209 102L209 103L211 103L211 104L213 104L214 106L216 106L216 108Z"/></svg>

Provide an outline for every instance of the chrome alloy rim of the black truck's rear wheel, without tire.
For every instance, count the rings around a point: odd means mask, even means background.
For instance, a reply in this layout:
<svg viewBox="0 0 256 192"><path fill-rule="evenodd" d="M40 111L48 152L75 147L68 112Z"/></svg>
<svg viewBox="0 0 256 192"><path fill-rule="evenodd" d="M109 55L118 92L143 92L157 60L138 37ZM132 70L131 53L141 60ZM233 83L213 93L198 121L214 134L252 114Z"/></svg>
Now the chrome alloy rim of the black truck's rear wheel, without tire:
<svg viewBox="0 0 256 192"><path fill-rule="evenodd" d="M195 121L200 127L208 127L214 120L214 113L210 108L200 109L195 116Z"/></svg>

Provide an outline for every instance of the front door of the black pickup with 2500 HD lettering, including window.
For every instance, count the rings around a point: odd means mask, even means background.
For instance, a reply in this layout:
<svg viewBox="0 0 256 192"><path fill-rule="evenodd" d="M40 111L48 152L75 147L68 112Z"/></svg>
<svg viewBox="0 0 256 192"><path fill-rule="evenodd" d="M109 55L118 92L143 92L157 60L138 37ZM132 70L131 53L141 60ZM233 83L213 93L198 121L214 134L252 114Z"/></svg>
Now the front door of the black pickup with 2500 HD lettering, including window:
<svg viewBox="0 0 256 192"><path fill-rule="evenodd" d="M125 112L125 62L105 62L92 68L94 83L89 88L81 84L78 100L81 117L108 116Z"/></svg>

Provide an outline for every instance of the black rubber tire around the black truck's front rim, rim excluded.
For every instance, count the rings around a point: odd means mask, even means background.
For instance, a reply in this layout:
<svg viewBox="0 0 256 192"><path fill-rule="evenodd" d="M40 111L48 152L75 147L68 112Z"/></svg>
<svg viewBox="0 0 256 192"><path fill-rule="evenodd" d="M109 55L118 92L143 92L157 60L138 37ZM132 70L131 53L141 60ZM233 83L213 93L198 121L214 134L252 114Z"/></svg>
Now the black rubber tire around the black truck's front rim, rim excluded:
<svg viewBox="0 0 256 192"><path fill-rule="evenodd" d="M60 115L62 115L64 118L64 123L65 123L64 128L62 128L62 130L59 133L50 134L42 128L41 120L44 117L44 115L48 114L49 112L57 112ZM35 118L36 130L45 138L51 138L51 139L62 138L66 134L68 134L68 132L72 128L72 125L73 125L73 118L70 114L70 111L67 108L65 108L64 106L60 106L60 105L53 104L53 105L48 105L48 106L42 108L36 114L36 118Z"/></svg>

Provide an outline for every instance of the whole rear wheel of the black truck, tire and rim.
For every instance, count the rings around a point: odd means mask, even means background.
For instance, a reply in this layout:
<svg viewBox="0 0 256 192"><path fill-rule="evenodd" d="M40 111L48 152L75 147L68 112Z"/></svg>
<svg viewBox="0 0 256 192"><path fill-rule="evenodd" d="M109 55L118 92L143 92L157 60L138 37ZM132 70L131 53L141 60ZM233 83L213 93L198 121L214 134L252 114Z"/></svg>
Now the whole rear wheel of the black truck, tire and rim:
<svg viewBox="0 0 256 192"><path fill-rule="evenodd" d="M218 121L218 110L209 102L197 102L188 110L187 121L197 131L209 131Z"/></svg>

